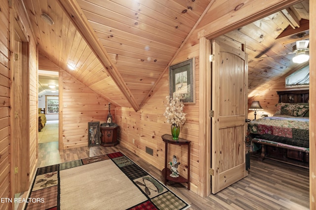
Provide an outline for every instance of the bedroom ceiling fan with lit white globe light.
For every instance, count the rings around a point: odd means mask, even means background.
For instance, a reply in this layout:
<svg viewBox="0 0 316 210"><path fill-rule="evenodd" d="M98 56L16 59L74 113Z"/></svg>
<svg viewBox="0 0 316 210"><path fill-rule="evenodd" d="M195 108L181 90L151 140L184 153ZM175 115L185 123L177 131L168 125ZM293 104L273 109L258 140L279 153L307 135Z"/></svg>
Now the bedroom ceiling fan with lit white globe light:
<svg viewBox="0 0 316 210"><path fill-rule="evenodd" d="M276 57L276 56L282 56L282 55L288 55L288 54L294 54L295 53L296 56L293 58L293 62L296 62L296 63L306 62L310 58L309 55L306 55L306 51L310 50L308 48L309 42L310 42L309 40L296 41L296 45L294 45L292 47L292 52L278 54L278 55L273 55L273 56L261 57L261 59L271 58L271 57Z"/></svg>

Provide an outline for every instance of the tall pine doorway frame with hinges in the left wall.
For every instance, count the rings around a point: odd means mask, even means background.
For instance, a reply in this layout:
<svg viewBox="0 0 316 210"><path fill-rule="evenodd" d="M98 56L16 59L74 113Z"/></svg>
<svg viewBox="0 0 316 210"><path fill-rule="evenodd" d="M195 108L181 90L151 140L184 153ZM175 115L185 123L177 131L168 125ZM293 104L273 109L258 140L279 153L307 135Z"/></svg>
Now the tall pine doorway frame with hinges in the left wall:
<svg viewBox="0 0 316 210"><path fill-rule="evenodd" d="M14 193L27 191L30 184L30 55L28 36L13 12L10 20L10 192L14 197ZM16 42L20 43L18 53Z"/></svg>

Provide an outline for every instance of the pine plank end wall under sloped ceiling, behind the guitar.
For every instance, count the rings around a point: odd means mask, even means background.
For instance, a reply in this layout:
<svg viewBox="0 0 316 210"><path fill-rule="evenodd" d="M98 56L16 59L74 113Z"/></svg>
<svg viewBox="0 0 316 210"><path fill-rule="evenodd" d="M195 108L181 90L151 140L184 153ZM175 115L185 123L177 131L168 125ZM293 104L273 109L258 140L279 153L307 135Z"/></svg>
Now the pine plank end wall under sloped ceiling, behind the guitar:
<svg viewBox="0 0 316 210"><path fill-rule="evenodd" d="M88 122L105 122L109 102L67 72L62 81L63 149L88 146ZM113 104L111 114L116 120Z"/></svg>

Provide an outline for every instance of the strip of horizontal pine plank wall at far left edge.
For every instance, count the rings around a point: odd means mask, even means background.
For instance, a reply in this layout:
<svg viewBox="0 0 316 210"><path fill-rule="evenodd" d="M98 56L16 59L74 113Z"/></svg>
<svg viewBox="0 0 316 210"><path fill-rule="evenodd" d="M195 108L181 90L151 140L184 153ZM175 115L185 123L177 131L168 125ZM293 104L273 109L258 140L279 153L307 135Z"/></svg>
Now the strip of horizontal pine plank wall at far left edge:
<svg viewBox="0 0 316 210"><path fill-rule="evenodd" d="M9 5L0 0L0 198L10 198ZM9 209L0 203L0 209Z"/></svg>

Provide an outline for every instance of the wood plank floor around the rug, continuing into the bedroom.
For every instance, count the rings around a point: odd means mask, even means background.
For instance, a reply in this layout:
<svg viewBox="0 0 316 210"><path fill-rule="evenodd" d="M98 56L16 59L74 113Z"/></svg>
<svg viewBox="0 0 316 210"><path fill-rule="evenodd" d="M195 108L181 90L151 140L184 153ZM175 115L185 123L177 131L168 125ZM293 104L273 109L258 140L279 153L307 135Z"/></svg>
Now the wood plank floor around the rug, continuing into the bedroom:
<svg viewBox="0 0 316 210"><path fill-rule="evenodd" d="M58 142L39 145L38 167L122 151L156 179L160 170L120 145L115 147L81 147L58 151ZM248 177L216 195L201 198L181 184L167 184L169 189L188 202L189 210L308 210L309 170L251 156Z"/></svg>

